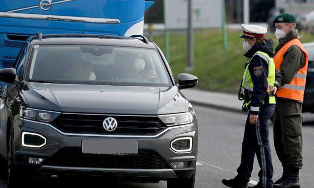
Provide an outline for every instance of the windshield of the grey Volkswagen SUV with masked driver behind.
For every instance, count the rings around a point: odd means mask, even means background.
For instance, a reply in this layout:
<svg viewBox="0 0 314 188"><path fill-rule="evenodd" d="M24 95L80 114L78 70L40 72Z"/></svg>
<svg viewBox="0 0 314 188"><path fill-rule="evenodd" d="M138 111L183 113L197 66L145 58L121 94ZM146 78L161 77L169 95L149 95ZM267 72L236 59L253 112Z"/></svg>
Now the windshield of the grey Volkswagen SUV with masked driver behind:
<svg viewBox="0 0 314 188"><path fill-rule="evenodd" d="M27 80L64 84L172 86L157 49L35 45Z"/></svg>

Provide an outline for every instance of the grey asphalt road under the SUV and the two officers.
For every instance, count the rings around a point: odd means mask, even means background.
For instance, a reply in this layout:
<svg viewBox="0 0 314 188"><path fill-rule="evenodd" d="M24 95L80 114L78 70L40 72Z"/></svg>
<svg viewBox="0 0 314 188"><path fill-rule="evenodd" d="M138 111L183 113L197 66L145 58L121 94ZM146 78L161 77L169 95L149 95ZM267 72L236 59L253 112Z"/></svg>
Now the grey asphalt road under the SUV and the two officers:
<svg viewBox="0 0 314 188"><path fill-rule="evenodd" d="M194 106L199 121L199 157L196 175L196 188L225 188L221 184L223 178L233 178L240 162L240 149L244 133L245 114L224 112L211 108ZM314 115L304 115L304 168L301 170L301 184L303 188L313 188L314 178ZM270 143L273 154L274 179L280 177L282 170L277 159L272 126L270 125ZM260 167L255 160L252 180L258 181ZM44 186L45 185L45 186ZM252 184L251 184L252 185ZM166 188L166 182L154 184L139 184L121 181L103 181L101 179L84 180L80 178L61 182L57 178L32 179L33 188L42 187L109 187L109 188ZM253 185L252 185L253 186ZM0 181L0 188L5 188Z"/></svg>

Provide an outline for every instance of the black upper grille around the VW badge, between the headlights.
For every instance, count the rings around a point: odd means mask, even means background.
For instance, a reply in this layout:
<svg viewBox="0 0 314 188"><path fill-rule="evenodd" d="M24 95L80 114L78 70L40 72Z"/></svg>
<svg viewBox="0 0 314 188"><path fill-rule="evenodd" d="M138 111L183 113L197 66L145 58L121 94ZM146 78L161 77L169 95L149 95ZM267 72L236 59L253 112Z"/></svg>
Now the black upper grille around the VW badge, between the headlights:
<svg viewBox="0 0 314 188"><path fill-rule="evenodd" d="M105 118L112 117L118 122L117 129L108 132L103 127ZM52 125L65 133L110 134L110 135L156 135L167 127L156 116L107 116L61 114Z"/></svg>

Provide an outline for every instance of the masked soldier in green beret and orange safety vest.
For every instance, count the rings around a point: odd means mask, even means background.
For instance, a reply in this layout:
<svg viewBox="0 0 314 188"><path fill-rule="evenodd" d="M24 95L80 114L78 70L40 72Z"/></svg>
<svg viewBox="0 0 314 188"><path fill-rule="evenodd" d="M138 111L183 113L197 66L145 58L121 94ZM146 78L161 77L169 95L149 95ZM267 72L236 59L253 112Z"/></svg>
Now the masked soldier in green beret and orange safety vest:
<svg viewBox="0 0 314 188"><path fill-rule="evenodd" d="M302 168L302 101L309 55L299 41L292 14L281 14L274 20L275 35L279 39L274 57L276 69L282 76L274 115L274 142L282 177L274 188L299 188L299 170Z"/></svg>

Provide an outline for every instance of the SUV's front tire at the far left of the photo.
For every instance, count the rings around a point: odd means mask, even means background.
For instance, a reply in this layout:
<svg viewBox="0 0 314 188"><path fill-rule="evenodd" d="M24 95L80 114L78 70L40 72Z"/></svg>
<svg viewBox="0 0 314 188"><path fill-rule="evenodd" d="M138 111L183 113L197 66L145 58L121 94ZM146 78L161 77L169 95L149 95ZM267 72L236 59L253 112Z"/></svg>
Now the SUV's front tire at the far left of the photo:
<svg viewBox="0 0 314 188"><path fill-rule="evenodd" d="M16 168L13 161L13 143L12 136L10 134L9 143L7 145L7 174L6 174L6 187L7 188L16 188L19 187L20 182L24 182L22 179L23 176L19 176L18 169Z"/></svg>

